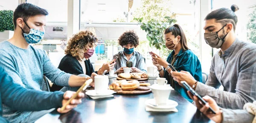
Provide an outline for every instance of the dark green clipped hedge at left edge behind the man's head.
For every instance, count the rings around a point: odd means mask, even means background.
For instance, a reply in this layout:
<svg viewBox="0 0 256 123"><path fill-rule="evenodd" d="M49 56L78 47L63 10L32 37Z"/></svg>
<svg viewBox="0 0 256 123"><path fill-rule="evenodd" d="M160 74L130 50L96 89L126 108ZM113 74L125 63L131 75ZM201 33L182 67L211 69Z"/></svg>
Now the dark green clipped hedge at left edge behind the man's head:
<svg viewBox="0 0 256 123"><path fill-rule="evenodd" d="M14 24L12 22L13 11L1 10L0 11L0 32L11 30L14 31Z"/></svg>

